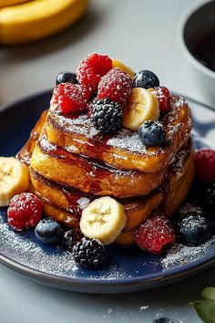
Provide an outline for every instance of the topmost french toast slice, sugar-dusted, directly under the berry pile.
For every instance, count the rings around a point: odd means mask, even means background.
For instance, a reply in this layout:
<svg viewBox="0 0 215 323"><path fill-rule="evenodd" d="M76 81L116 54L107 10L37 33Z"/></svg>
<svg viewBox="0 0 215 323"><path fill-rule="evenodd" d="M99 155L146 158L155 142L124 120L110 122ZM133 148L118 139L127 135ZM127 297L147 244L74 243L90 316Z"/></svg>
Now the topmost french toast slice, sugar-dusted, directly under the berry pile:
<svg viewBox="0 0 215 323"><path fill-rule="evenodd" d="M171 96L170 109L160 119L166 130L164 147L146 147L138 133L122 129L117 134L101 135L87 114L63 116L51 105L45 124L47 140L67 151L93 158L121 170L160 172L189 138L192 127L185 99Z"/></svg>

